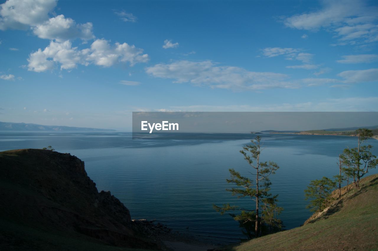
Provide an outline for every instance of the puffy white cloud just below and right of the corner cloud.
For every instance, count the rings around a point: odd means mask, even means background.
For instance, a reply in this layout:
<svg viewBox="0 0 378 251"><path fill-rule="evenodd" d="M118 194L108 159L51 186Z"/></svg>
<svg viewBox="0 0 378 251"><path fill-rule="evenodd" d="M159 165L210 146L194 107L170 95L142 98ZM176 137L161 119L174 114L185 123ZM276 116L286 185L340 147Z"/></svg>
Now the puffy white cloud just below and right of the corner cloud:
<svg viewBox="0 0 378 251"><path fill-rule="evenodd" d="M42 24L37 24L32 30L39 38L63 42L75 38L81 38L84 41L93 39L95 36L92 28L92 23L76 24L73 19L58 15Z"/></svg>

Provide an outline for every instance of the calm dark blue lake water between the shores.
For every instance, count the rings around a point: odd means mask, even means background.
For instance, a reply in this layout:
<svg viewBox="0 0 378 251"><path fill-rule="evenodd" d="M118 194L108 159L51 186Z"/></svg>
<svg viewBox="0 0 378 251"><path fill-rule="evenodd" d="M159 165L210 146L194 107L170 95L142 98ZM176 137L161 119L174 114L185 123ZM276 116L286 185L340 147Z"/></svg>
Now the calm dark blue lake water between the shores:
<svg viewBox="0 0 378 251"><path fill-rule="evenodd" d="M312 179L338 174L338 155L356 146L356 137L263 134L262 161L280 166L271 176L272 193L279 194L280 215L287 229L311 215L304 189ZM109 190L129 208L133 219L157 219L177 231L210 239L244 237L230 216L212 204L253 208L251 199L225 191L229 168L248 175L249 165L239 150L249 143L237 140L132 140L130 132L0 132L0 151L42 148L71 153L99 191ZM378 141L369 139L378 155ZM377 169L369 174L378 173ZM224 239L223 237L235 238Z"/></svg>

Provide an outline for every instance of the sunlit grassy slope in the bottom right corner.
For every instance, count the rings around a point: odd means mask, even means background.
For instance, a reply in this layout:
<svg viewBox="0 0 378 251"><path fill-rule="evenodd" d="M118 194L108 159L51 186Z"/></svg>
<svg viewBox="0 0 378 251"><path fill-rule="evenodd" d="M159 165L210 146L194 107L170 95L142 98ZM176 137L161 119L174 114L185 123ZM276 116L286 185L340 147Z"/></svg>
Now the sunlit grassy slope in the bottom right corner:
<svg viewBox="0 0 378 251"><path fill-rule="evenodd" d="M349 190L311 223L226 249L378 250L378 174L361 180L359 190Z"/></svg>

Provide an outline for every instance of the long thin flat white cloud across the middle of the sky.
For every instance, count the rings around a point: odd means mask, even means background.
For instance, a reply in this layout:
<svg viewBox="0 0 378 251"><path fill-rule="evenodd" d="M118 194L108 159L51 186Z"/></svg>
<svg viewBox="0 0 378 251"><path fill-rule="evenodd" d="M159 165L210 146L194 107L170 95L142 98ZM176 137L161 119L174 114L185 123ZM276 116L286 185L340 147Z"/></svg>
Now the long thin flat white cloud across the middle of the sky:
<svg viewBox="0 0 378 251"><path fill-rule="evenodd" d="M250 72L240 67L217 66L211 61L177 61L146 68L153 77L173 79L174 83L192 83L211 88L260 90L297 88L299 84L286 81L288 76L274 72Z"/></svg>

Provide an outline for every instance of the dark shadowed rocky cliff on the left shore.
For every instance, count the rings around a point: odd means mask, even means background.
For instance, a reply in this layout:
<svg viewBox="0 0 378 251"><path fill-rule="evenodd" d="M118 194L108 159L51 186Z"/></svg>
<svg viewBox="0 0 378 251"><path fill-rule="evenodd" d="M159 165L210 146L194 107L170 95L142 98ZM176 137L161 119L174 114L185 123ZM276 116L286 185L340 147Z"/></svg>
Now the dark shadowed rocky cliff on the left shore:
<svg viewBox="0 0 378 251"><path fill-rule="evenodd" d="M52 235L63 244L62 238L159 248L135 233L129 210L116 197L98 192L80 159L39 149L0 152L0 248L54 249Z"/></svg>

